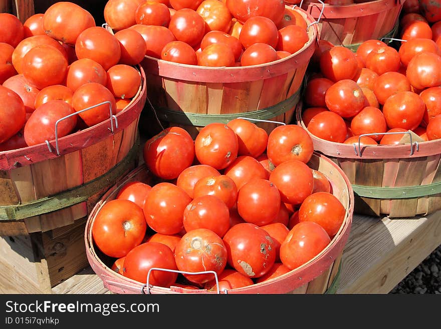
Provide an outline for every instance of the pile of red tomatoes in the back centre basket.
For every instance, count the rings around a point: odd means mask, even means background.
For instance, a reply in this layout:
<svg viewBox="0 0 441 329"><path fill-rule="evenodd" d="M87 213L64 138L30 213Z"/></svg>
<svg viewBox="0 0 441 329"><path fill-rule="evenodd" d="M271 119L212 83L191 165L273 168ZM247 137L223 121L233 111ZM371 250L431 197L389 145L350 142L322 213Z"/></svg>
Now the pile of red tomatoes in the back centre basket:
<svg viewBox="0 0 441 329"><path fill-rule="evenodd" d="M305 19L283 0L109 0L104 18L113 31L139 32L145 55L187 65L265 64L309 41Z"/></svg>

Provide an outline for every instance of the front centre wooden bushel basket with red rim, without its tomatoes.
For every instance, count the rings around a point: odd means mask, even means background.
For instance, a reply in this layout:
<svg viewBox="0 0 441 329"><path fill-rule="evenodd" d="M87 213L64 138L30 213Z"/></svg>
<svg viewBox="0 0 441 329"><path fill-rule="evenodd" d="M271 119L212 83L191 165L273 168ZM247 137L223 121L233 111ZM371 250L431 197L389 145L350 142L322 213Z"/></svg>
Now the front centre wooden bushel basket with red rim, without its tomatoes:
<svg viewBox="0 0 441 329"><path fill-rule="evenodd" d="M220 291L221 293L335 293L341 254L352 224L353 191L343 171L325 156L314 153L308 165L329 178L332 193L346 208L345 220L338 233L322 252L299 268L266 282ZM145 166L138 167L125 179L115 184L92 210L85 231L86 254L92 269L103 280L104 286L115 293L216 293L216 291L190 290L175 286L170 288L147 286L111 270L110 267L115 259L103 255L95 246L92 227L101 207L106 202L115 199L119 189L126 183L134 180L149 183L150 179L151 176Z"/></svg>

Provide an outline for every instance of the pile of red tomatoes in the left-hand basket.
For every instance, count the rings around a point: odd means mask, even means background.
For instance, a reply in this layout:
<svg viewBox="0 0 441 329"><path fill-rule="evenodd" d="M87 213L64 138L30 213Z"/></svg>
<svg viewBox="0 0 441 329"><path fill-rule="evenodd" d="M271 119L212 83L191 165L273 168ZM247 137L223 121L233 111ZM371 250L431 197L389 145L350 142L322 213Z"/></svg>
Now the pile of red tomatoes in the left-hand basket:
<svg viewBox="0 0 441 329"><path fill-rule="evenodd" d="M76 4L58 2L23 24L0 13L0 26L0 151L53 140L62 118L58 137L94 126L139 90L142 37L114 36Z"/></svg>

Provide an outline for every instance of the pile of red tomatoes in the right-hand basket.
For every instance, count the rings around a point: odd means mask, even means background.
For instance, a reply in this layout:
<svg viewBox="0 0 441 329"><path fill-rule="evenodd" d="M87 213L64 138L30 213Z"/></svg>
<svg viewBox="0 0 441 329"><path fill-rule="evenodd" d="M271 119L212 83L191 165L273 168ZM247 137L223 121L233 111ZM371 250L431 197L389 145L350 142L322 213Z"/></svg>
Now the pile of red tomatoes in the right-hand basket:
<svg viewBox="0 0 441 329"><path fill-rule="evenodd" d="M319 41L302 114L310 133L361 145L398 144L409 131L441 138L441 11L416 3L400 19L396 47L368 40L352 53Z"/></svg>

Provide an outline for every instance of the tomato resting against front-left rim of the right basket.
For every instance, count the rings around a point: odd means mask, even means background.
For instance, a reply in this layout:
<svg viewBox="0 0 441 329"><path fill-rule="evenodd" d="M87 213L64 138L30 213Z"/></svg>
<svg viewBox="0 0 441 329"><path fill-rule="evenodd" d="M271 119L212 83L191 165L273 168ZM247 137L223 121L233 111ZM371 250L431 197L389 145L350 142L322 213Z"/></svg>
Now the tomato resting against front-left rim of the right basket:
<svg viewBox="0 0 441 329"><path fill-rule="evenodd" d="M335 112L324 111L315 115L307 128L311 134L330 142L343 143L346 140L345 121Z"/></svg>

